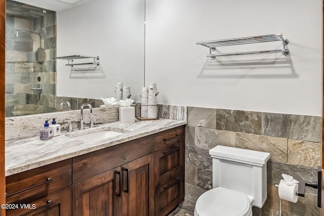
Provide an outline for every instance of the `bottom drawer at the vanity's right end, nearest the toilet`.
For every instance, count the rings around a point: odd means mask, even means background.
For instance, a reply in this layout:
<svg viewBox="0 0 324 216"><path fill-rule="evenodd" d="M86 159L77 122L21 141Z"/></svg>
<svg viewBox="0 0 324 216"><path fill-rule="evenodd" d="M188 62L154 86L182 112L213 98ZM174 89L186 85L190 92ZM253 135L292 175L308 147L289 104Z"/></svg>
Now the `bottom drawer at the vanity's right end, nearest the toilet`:
<svg viewBox="0 0 324 216"><path fill-rule="evenodd" d="M155 188L155 216L167 215L184 200L184 172Z"/></svg>

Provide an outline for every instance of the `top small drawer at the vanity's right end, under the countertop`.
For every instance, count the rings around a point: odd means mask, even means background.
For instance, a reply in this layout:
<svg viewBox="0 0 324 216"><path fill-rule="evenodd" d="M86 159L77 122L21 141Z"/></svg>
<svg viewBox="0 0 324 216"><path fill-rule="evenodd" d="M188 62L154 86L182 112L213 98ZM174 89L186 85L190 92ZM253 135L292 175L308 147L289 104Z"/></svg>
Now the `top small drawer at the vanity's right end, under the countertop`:
<svg viewBox="0 0 324 216"><path fill-rule="evenodd" d="M184 140L185 126L179 126L155 135L155 151Z"/></svg>

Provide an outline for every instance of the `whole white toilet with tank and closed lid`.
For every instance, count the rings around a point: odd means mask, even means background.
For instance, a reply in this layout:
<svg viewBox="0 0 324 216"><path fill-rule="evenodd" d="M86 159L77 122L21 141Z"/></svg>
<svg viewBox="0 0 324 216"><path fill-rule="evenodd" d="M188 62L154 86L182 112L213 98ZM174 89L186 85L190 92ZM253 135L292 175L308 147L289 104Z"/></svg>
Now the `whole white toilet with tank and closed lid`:
<svg viewBox="0 0 324 216"><path fill-rule="evenodd" d="M267 199L267 152L216 146L213 189L201 194L195 216L252 216L252 206L262 208Z"/></svg>

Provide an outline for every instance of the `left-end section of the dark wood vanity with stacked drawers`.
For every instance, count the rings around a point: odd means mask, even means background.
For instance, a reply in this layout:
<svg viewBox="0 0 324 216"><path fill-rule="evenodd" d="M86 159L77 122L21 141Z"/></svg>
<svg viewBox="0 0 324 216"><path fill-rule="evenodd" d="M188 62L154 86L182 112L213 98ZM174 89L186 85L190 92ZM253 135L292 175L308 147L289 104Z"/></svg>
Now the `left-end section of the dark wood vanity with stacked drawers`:
<svg viewBox="0 0 324 216"><path fill-rule="evenodd" d="M71 215L71 159L6 177L6 215Z"/></svg>

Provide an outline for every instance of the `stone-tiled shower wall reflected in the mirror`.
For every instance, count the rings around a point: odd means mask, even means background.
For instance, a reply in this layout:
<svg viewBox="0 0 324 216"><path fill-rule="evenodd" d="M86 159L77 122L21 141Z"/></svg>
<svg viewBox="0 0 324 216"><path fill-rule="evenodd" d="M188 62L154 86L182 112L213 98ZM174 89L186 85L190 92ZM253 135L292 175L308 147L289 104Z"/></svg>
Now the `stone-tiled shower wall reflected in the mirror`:
<svg viewBox="0 0 324 216"><path fill-rule="evenodd" d="M17 37L18 30L36 33L19 31ZM41 32L41 38L37 32ZM54 111L55 43L55 12L43 13L37 7L7 0L6 116ZM37 62L39 48L44 49L45 58ZM31 90L37 84L43 86L41 95Z"/></svg>

